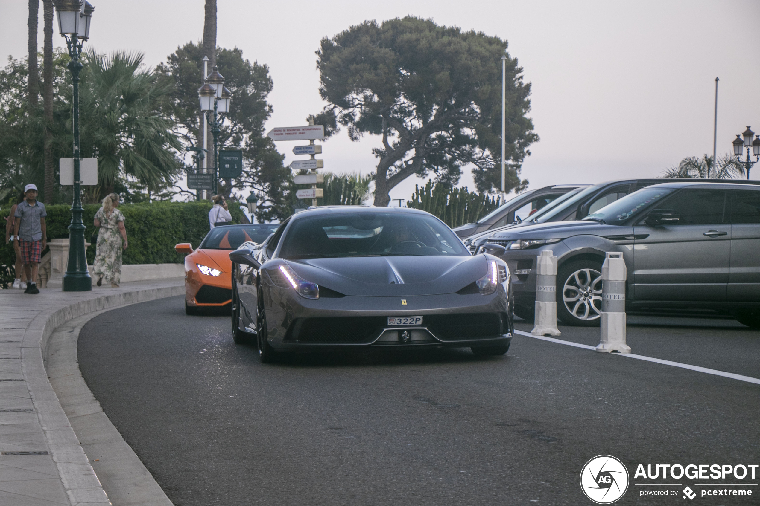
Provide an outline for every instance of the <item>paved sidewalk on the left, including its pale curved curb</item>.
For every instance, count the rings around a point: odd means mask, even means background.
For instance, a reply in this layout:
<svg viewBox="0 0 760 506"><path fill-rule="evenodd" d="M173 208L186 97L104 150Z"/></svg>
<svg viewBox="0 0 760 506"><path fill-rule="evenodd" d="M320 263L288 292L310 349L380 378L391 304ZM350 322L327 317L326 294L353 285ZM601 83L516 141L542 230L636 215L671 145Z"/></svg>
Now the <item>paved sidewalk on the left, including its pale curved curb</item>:
<svg viewBox="0 0 760 506"><path fill-rule="evenodd" d="M0 290L0 504L111 504L50 385L53 330L78 316L184 293L182 278L40 294Z"/></svg>

